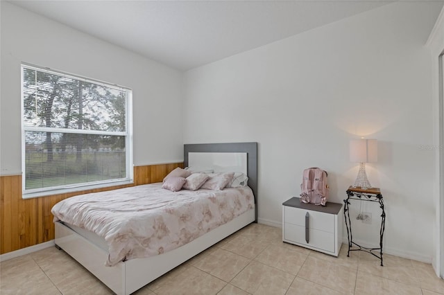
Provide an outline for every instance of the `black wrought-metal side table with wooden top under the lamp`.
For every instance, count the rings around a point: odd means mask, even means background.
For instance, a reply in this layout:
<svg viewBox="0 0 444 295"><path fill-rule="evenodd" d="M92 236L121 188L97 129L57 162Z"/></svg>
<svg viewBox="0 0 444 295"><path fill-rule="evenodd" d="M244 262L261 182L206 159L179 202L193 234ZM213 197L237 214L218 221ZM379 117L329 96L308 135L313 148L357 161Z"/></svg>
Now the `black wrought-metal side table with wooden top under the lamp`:
<svg viewBox="0 0 444 295"><path fill-rule="evenodd" d="M379 203L379 207L382 210L381 229L379 230L379 248L362 247L359 244L353 242L352 224L350 223L350 212L348 211L348 206L350 205L350 202L349 202L350 199L357 199L360 201L378 202ZM345 218L345 226L347 227L347 235L348 235L347 256L350 257L350 251L366 251L367 253L370 253L373 256L379 258L381 260L381 266L383 266L382 265L382 239L384 238L386 212L384 211L384 199L382 198L381 190L379 188L368 188L366 190L363 190L359 186L356 188L353 188L352 186L350 186L347 190L347 199L344 199L344 218ZM352 247L352 245L357 246L358 249L350 249ZM379 253L377 253L378 251L379 251ZM374 253L374 252L376 252L376 253Z"/></svg>

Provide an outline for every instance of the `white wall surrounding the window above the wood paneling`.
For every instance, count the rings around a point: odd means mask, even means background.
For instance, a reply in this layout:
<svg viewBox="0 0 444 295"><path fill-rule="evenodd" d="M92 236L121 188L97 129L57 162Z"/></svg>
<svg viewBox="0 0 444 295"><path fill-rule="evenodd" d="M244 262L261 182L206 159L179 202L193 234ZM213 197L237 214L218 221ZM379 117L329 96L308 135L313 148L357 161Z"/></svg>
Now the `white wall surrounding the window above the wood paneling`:
<svg viewBox="0 0 444 295"><path fill-rule="evenodd" d="M22 170L21 62L132 88L135 165L183 161L181 72L5 1L0 5L1 174Z"/></svg>

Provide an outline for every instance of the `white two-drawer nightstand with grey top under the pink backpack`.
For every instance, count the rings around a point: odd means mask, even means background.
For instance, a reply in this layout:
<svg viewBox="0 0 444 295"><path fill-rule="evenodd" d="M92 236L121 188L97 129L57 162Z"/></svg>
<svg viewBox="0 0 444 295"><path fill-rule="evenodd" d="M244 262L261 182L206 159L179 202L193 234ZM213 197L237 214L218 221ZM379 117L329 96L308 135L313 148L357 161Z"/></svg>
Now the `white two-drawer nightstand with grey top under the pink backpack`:
<svg viewBox="0 0 444 295"><path fill-rule="evenodd" d="M305 204L292 197L282 204L282 240L338 256L342 244L343 205Z"/></svg>

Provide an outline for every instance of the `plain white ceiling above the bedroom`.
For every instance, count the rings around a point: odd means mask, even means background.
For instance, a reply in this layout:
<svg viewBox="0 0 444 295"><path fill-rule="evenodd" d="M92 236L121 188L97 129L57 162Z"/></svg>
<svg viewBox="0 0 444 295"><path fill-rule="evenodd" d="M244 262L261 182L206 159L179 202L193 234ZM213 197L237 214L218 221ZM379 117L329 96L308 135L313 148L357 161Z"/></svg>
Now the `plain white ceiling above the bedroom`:
<svg viewBox="0 0 444 295"><path fill-rule="evenodd" d="M10 1L180 70L391 1Z"/></svg>

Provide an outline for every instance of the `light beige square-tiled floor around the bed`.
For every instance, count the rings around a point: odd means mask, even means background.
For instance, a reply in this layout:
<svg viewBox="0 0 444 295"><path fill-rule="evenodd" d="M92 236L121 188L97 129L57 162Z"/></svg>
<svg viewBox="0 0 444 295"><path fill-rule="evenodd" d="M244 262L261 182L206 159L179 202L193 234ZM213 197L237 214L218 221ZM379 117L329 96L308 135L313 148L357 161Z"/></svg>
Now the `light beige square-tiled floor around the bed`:
<svg viewBox="0 0 444 295"><path fill-rule="evenodd" d="M0 263L0 294L112 294L51 247ZM444 294L431 265L368 253L339 258L282 242L281 229L250 224L135 294Z"/></svg>

